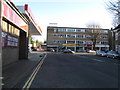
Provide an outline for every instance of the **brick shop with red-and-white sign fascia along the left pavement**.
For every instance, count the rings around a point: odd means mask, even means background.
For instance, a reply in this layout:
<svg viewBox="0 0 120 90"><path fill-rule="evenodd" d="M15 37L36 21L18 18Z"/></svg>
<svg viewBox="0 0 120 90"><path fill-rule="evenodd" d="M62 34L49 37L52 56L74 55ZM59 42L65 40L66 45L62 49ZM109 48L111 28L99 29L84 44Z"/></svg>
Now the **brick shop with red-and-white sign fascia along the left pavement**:
<svg viewBox="0 0 120 90"><path fill-rule="evenodd" d="M39 31L34 26L35 22L29 21L11 0L1 0L0 4L2 64L4 66L17 60L27 59L30 29L32 28L33 33Z"/></svg>

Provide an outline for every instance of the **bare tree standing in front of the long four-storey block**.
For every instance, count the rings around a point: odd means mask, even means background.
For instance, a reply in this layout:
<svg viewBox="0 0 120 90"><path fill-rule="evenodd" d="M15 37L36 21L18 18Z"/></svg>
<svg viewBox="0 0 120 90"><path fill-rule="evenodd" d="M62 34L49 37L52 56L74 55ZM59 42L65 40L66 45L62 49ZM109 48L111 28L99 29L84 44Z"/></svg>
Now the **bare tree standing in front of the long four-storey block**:
<svg viewBox="0 0 120 90"><path fill-rule="evenodd" d="M96 45L96 42L97 42L97 39L99 38L100 36L100 25L98 24L95 24L95 23L91 23L91 24L88 24L87 25L88 27L88 34L89 34L89 38L90 40L92 41L92 44L93 44L93 50L96 50L95 48L95 45Z"/></svg>

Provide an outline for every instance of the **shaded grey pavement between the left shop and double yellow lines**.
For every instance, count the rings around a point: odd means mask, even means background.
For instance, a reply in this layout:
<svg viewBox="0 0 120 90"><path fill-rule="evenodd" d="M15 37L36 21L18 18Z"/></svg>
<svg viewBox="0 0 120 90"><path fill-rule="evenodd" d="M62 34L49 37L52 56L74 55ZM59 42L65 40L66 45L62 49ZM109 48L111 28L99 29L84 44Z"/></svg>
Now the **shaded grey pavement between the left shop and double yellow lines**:
<svg viewBox="0 0 120 90"><path fill-rule="evenodd" d="M27 60L19 60L3 66L2 88L22 88L44 55L42 52L31 52Z"/></svg>

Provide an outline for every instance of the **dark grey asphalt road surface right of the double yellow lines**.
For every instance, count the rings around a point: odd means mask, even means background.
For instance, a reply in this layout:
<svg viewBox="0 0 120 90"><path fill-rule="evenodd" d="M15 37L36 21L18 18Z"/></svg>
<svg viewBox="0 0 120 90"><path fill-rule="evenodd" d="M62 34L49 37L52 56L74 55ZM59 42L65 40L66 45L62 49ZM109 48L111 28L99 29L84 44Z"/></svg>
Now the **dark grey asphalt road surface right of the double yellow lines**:
<svg viewBox="0 0 120 90"><path fill-rule="evenodd" d="M47 54L30 88L118 88L117 59Z"/></svg>

